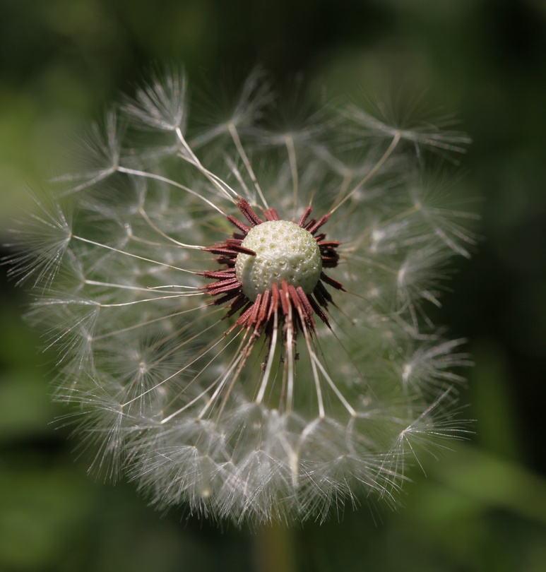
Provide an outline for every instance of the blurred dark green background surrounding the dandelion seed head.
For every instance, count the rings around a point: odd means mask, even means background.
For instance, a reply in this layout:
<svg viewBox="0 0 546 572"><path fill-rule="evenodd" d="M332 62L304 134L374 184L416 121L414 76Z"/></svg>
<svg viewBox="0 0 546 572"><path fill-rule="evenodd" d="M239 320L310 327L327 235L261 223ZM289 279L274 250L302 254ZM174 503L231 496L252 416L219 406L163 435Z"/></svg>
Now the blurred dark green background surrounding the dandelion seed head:
<svg viewBox="0 0 546 572"><path fill-rule="evenodd" d="M476 433L426 460L396 512L364 501L341 522L258 535L161 515L130 484L94 482L50 423L54 365L2 266L0 570L546 571L545 2L0 0L1 243L66 134L155 61L191 78L259 63L348 95L404 81L458 113L474 140L458 187L480 198L482 240L439 319L469 339Z"/></svg>

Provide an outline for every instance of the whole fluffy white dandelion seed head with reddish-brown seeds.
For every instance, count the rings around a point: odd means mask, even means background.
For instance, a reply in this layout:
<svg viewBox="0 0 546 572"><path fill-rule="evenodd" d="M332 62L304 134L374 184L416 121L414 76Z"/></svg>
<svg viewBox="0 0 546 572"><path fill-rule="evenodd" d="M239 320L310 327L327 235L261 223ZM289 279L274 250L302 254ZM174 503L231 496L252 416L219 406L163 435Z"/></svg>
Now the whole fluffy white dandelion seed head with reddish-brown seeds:
<svg viewBox="0 0 546 572"><path fill-rule="evenodd" d="M456 420L461 340L427 316L469 215L427 179L468 139L328 105L275 128L268 77L223 117L156 76L16 229L55 397L160 507L236 523L396 502ZM417 461L418 462L418 461Z"/></svg>

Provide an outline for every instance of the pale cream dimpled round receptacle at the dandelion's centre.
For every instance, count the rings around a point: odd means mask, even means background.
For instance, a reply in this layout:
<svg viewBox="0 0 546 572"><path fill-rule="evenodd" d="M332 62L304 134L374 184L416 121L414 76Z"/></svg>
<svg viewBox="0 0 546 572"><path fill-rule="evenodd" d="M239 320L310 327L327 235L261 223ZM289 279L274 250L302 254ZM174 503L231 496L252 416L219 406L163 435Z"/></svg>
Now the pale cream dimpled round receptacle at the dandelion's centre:
<svg viewBox="0 0 546 572"><path fill-rule="evenodd" d="M242 246L256 256L239 254L235 262L237 280L244 294L255 300L258 294L280 286L282 280L301 286L311 294L322 271L322 258L313 235L287 220L268 220L251 228Z"/></svg>

